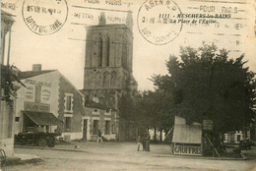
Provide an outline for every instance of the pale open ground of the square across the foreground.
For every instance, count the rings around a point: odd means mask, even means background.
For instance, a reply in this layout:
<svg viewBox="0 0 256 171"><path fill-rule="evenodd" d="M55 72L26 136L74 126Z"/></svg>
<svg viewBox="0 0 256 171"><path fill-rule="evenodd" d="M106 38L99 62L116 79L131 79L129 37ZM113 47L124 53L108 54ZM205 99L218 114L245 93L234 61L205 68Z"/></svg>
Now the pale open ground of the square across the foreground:
<svg viewBox="0 0 256 171"><path fill-rule="evenodd" d="M79 145L79 149L75 149ZM55 149L55 150L53 150ZM254 149L253 149L254 150ZM4 171L156 171L241 170L256 171L256 160L215 160L170 154L167 144L151 144L151 151L137 151L135 142L73 142L54 148L15 148L16 153L40 156L44 161L4 167Z"/></svg>

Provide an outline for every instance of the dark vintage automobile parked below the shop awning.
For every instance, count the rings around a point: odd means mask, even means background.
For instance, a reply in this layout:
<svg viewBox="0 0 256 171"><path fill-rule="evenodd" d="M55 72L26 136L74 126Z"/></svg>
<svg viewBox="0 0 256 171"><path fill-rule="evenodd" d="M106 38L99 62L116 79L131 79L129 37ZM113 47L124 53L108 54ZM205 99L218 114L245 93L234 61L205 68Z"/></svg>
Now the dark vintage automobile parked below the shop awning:
<svg viewBox="0 0 256 171"><path fill-rule="evenodd" d="M40 147L54 147L56 137L59 136L56 133L43 133L28 131L15 135L15 144L30 144L38 145Z"/></svg>

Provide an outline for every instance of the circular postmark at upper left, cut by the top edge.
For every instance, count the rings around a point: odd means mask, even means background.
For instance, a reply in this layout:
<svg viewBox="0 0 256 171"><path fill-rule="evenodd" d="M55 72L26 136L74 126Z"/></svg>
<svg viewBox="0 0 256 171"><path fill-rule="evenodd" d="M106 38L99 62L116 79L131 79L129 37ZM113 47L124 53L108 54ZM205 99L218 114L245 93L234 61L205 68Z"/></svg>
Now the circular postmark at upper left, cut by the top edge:
<svg viewBox="0 0 256 171"><path fill-rule="evenodd" d="M28 28L39 35L56 32L67 21L66 0L24 0L23 19Z"/></svg>

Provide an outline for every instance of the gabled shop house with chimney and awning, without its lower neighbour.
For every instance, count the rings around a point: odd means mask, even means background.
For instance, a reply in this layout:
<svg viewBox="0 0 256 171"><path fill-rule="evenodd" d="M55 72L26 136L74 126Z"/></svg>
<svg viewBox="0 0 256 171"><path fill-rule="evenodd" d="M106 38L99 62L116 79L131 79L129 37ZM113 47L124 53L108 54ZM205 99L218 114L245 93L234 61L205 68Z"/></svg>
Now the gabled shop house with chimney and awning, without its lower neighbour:
<svg viewBox="0 0 256 171"><path fill-rule="evenodd" d="M17 91L16 134L38 125L48 132L62 133L67 140L83 138L84 95L74 85L59 71L41 70L40 65L19 76L26 86Z"/></svg>

